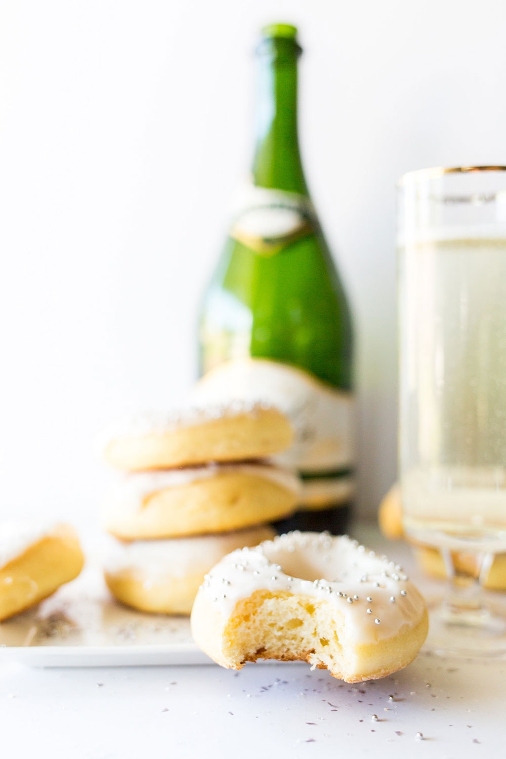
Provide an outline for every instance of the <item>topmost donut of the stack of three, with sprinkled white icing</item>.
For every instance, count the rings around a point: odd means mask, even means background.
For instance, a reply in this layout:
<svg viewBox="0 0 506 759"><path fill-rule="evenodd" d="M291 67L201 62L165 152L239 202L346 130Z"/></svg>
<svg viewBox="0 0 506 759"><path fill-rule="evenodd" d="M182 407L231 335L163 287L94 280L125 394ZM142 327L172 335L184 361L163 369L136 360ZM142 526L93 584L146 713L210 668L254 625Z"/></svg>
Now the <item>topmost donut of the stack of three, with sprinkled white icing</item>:
<svg viewBox="0 0 506 759"><path fill-rule="evenodd" d="M294 433L281 411L233 402L174 414L145 414L102 435L105 461L126 471L264 458L287 449Z"/></svg>

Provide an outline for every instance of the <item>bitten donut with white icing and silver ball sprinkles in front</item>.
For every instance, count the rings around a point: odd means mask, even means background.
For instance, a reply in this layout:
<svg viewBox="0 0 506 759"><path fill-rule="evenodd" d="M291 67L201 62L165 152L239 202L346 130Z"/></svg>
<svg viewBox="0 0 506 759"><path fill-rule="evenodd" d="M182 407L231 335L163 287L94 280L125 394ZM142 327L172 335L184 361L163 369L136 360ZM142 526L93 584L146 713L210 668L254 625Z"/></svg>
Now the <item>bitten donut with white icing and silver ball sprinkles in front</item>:
<svg viewBox="0 0 506 759"><path fill-rule="evenodd" d="M196 595L191 627L225 667L306 660L360 682L409 664L428 621L399 565L345 536L294 532L218 562Z"/></svg>

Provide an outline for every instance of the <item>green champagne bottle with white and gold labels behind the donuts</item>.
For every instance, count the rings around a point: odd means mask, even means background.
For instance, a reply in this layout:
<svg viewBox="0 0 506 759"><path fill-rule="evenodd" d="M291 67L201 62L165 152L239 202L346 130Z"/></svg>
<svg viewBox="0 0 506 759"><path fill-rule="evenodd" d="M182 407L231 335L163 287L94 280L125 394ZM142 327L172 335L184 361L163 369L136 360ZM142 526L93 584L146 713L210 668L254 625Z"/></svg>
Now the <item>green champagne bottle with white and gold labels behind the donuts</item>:
<svg viewBox="0 0 506 759"><path fill-rule="evenodd" d="M354 494L350 309L297 135L297 29L262 30L256 150L200 314L200 400L263 398L297 442L300 511L280 530L344 531Z"/></svg>

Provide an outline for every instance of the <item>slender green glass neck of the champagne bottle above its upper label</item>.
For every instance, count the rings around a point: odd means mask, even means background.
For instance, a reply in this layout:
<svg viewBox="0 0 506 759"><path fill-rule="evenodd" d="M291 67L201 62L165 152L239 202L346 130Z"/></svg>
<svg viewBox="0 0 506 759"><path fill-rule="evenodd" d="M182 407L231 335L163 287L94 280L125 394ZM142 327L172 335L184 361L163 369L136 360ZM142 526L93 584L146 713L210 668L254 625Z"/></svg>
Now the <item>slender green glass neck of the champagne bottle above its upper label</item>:
<svg viewBox="0 0 506 759"><path fill-rule="evenodd" d="M253 183L307 194L297 130L294 39L264 39L259 49Z"/></svg>

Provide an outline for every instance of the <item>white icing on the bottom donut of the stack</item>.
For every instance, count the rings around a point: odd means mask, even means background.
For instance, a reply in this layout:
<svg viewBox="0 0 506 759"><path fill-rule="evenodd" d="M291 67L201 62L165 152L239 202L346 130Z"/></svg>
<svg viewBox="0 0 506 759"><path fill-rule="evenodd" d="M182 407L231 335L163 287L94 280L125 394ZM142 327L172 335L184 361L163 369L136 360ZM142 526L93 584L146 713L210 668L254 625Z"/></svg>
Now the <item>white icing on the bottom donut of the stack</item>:
<svg viewBox="0 0 506 759"><path fill-rule="evenodd" d="M111 574L134 572L152 581L186 575L203 577L227 553L243 546L254 546L263 540L266 529L250 528L168 540L134 540L133 543L122 543L110 537L103 566Z"/></svg>

